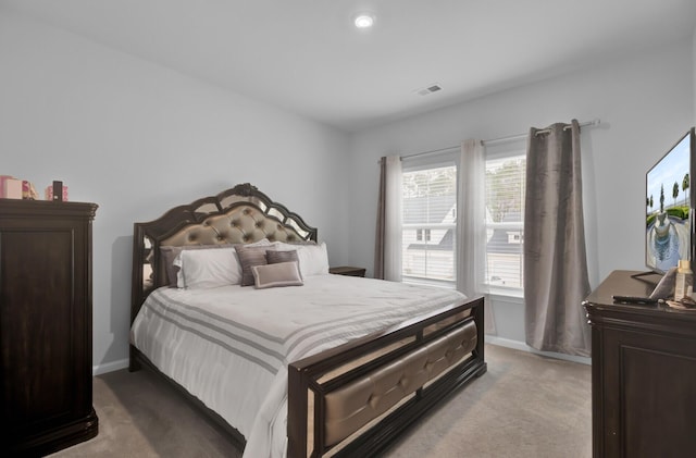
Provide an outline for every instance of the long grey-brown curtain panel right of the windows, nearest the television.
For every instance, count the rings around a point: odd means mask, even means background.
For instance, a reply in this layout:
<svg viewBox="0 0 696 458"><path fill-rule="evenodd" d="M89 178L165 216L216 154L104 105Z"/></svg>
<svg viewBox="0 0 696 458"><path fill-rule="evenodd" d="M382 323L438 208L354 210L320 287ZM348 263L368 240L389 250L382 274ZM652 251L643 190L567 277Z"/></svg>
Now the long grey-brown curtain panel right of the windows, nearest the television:
<svg viewBox="0 0 696 458"><path fill-rule="evenodd" d="M589 294L582 205L580 125L532 127L524 213L526 343L544 351L587 357Z"/></svg>

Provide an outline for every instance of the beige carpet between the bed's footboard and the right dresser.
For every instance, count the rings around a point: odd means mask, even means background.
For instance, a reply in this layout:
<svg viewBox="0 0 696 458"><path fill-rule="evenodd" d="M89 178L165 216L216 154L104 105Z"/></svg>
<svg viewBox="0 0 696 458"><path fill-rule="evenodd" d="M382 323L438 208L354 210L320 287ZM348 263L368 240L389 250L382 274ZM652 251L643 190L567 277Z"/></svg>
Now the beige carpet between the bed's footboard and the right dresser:
<svg viewBox="0 0 696 458"><path fill-rule="evenodd" d="M414 458L592 457L592 369L487 345L488 372L389 453Z"/></svg>

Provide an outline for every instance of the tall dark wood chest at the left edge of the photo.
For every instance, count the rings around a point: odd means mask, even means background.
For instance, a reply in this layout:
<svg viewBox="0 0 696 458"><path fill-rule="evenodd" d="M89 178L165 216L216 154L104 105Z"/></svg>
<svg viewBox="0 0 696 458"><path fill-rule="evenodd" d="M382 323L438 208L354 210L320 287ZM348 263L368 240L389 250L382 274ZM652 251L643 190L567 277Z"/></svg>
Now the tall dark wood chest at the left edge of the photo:
<svg viewBox="0 0 696 458"><path fill-rule="evenodd" d="M95 437L91 222L97 205L0 199L0 455Z"/></svg>

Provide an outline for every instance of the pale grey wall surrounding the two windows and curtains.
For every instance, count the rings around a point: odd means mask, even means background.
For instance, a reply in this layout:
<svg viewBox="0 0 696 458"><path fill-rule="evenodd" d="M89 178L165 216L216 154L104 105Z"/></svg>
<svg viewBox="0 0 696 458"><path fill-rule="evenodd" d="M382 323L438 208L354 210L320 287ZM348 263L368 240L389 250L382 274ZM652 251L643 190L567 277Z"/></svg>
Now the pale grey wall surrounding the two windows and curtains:
<svg viewBox="0 0 696 458"><path fill-rule="evenodd" d="M692 39L424 115L352 138L352 166L363 186L352 214L376 214L377 158L526 133L531 126L600 119L585 128L583 195L592 286L612 270L644 270L645 173L694 124ZM357 221L357 219L353 219ZM350 262L373 267L374 231L356 222ZM524 341L523 307L493 301L498 336Z"/></svg>

